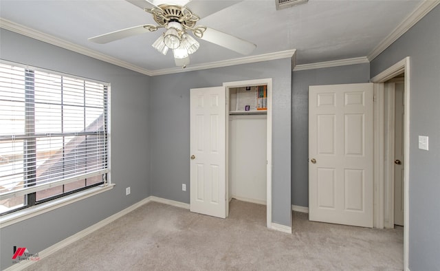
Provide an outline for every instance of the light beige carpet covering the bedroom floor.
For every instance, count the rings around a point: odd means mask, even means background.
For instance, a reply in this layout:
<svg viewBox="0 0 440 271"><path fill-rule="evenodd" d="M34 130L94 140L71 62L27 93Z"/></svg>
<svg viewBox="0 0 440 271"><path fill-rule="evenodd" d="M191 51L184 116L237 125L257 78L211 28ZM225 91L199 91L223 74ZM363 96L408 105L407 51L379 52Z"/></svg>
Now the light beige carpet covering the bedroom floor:
<svg viewBox="0 0 440 271"><path fill-rule="evenodd" d="M218 219L155 202L27 270L402 270L403 228L377 230L293 215L265 227L265 206L232 200Z"/></svg>

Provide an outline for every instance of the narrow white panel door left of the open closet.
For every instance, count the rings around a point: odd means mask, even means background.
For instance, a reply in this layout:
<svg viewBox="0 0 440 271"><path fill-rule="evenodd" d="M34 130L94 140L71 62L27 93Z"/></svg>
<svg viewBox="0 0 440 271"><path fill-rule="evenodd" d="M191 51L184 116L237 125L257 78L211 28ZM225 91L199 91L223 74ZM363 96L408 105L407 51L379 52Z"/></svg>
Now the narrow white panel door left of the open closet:
<svg viewBox="0 0 440 271"><path fill-rule="evenodd" d="M225 87L190 90L190 210L226 217Z"/></svg>

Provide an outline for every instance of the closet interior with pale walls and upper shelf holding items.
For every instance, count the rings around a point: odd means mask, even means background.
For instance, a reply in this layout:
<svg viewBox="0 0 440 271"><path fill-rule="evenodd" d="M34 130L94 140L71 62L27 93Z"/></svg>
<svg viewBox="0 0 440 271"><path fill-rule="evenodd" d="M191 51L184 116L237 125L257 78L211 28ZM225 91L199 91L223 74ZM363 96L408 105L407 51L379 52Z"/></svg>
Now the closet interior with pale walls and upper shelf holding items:
<svg viewBox="0 0 440 271"><path fill-rule="evenodd" d="M228 89L229 200L266 204L267 114L262 89L266 91L265 86Z"/></svg>

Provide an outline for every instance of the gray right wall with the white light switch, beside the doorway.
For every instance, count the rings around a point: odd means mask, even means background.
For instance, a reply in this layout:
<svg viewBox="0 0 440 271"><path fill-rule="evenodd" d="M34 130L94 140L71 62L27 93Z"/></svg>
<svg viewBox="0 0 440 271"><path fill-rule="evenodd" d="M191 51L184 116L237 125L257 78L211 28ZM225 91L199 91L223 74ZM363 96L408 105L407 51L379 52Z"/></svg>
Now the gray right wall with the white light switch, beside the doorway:
<svg viewBox="0 0 440 271"><path fill-rule="evenodd" d="M440 6L371 62L371 77L410 56L409 268L440 266ZM429 151L418 149L429 136Z"/></svg>

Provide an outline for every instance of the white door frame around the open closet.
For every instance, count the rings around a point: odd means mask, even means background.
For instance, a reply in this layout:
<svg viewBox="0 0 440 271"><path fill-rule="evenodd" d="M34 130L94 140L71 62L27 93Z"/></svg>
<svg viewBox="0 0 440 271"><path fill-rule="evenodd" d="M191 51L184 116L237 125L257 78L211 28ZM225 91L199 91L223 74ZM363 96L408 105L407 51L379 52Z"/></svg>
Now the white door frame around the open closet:
<svg viewBox="0 0 440 271"><path fill-rule="evenodd" d="M272 228L272 78L243 80L234 82L225 82L223 87L226 90L226 176L229 176L228 159L229 159L229 88L230 87L247 87L252 85L267 85L267 167L266 167L266 226ZM226 182L226 200L229 200L229 180ZM226 204L226 213L229 213L229 204Z"/></svg>

